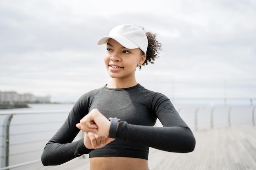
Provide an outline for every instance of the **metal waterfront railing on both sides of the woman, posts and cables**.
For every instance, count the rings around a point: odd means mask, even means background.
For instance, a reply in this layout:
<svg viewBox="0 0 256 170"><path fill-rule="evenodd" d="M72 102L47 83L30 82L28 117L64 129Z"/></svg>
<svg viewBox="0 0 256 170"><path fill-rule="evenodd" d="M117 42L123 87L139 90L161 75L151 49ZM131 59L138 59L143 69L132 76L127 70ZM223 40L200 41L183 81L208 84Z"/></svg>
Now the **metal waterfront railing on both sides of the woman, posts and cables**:
<svg viewBox="0 0 256 170"><path fill-rule="evenodd" d="M249 108L248 108L249 107ZM201 107L194 107L194 109L191 109L191 110L193 110L193 111L190 111L190 113L189 113L189 115L190 116L192 116L192 117L194 117L193 118L193 122L194 122L194 130L198 130L198 125L199 125L199 121L198 121L198 119L199 119L199 113L200 113L200 111L202 112L202 111L204 111L204 108L205 108L205 106L201 106ZM209 110L209 117L210 117L210 120L208 120L208 122L209 122L209 128L213 128L214 127L214 115L217 113L217 109L219 108L219 106L214 106L214 107L208 107L208 110ZM182 110L184 110L185 108L184 107L180 107L180 108L178 108L177 110L178 110L178 112L182 115ZM253 126L255 126L255 119L254 119L254 115L255 115L255 112L256 112L256 106L247 106L247 110L251 110L251 111L249 111L250 113L248 113L248 114L252 114L251 115L251 123L249 123L249 124L251 124L251 125L253 125ZM227 107L227 113L225 113L225 114L227 114L226 116L226 123L227 123L227 126L231 126L231 115L232 115L232 110L236 110L236 106L228 106ZM40 163L40 157L38 157L36 160L31 160L31 161L26 161L26 162L22 162L22 163L16 163L16 164L14 164L14 165L9 165L9 159L10 159L10 152L9 152L9 149L10 149L10 146L15 146L15 145L18 145L17 143L16 144L11 144L10 143L10 136L13 136L13 137L15 137L15 135L17 135L17 134L15 134L15 133L13 133L13 130L12 130L12 132L10 131L10 127L11 126L16 126L16 128L17 127L22 127L22 126L27 126L27 122L25 122L25 123L21 123L21 122L19 122L18 120L16 120L16 122L14 122L13 124L11 124L11 120L14 118L14 117L22 117L22 116L25 116L25 115L27 115L27 116L37 116L37 115L41 115L41 117L42 117L42 115L43 115L43 117L46 117L46 119L45 120L42 120L42 121L39 121L39 122L37 122L36 124L35 123L30 123L30 125L31 125L31 127L32 126L35 126L35 125L40 125L40 126L46 126L46 124L49 124L49 121L51 121L52 122L52 124L56 124L56 122L58 122L59 123L59 125L60 124L62 124L63 122L64 122L64 119L66 119L66 117L67 116L65 116L65 114L67 115L68 114L68 112L69 112L70 110L57 110L57 111L34 111L34 112L30 112L30 113L28 113L28 112L26 112L26 113L24 113L24 112L16 112L16 113L4 113L4 112L2 112L2 113L0 113L0 116L5 116L5 119L4 119L4 121L3 121L3 124L2 124L2 135L0 135L1 137L2 137L2 145L0 146L1 148L2 148L2 156L1 156L1 159L2 159L2 163L1 163L1 167L2 168L0 168L0 170L11 170L11 169L13 169L13 168L18 168L18 167L21 167L21 166L27 166L27 165L31 165L31 164L34 164L34 163ZM225 111L226 112L226 111ZM63 119L62 120L58 120L58 121L56 121L56 120L49 120L49 119L47 119L47 116L48 115L51 115L51 117L52 117L52 115L54 115L54 114L60 114L58 117L62 117ZM201 113L201 114L204 114L204 113ZM194 116L193 116L194 115ZM18 118L18 119L20 119L20 118ZM56 118L56 119L58 119L58 118ZM1 120L0 120L1 121ZM21 121L21 120L20 120ZM59 127L59 126L58 126ZM50 132L52 132L52 134L54 134L55 132L56 132L56 130L57 130L58 128L48 128L48 129L46 129L46 130L42 130L42 129L39 129L39 130L37 130L37 131L30 131L30 132L23 132L23 134L30 134L30 135L33 135L35 132L36 133L43 133L43 132L48 132L48 131L50 131ZM15 130L14 130L15 131ZM37 141L42 141L44 144L46 144L46 142L52 137L52 134L51 134L51 136L45 136L45 139L38 139ZM82 134L82 133L81 133ZM83 137L83 135L79 135L79 137L77 138L77 139L81 139ZM31 141L25 141L25 142L23 142L23 144L28 144L28 143L31 143ZM33 141L32 141L32 143L33 143ZM40 146L41 147L41 146ZM43 147L42 148L39 148L39 151L40 151L40 154L41 154L41 152L43 152ZM38 148L34 148L34 150L31 150L31 151L29 151L30 153L32 153L32 152L38 152ZM20 155L22 155L22 154L26 154L25 152L22 152L22 153L19 153ZM16 154L16 155L18 155L18 154ZM13 156L13 155L12 155ZM35 158L34 158L35 159Z"/></svg>

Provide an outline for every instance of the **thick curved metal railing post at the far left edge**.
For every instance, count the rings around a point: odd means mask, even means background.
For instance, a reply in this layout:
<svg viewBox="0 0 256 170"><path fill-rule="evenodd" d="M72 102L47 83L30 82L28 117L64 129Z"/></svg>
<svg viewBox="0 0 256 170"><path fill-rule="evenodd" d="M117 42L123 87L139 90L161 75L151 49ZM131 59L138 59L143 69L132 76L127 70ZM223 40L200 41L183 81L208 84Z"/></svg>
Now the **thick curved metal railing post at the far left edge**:
<svg viewBox="0 0 256 170"><path fill-rule="evenodd" d="M10 123L11 123L12 117L13 117L13 114L7 115L3 124L4 148L2 150L2 156L4 157L4 159L2 159L2 168L9 166L9 131L10 131Z"/></svg>

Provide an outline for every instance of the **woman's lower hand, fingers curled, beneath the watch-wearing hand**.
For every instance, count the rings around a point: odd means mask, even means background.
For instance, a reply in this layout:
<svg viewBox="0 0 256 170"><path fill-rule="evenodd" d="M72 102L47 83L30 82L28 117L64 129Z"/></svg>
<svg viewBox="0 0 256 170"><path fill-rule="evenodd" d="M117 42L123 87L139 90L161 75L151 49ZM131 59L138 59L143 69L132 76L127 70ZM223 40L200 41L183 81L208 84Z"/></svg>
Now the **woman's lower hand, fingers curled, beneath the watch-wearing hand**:
<svg viewBox="0 0 256 170"><path fill-rule="evenodd" d="M95 135L92 132L85 133L85 138L83 140L83 144L85 145L86 148L88 149L99 149L110 142L114 141L115 139L107 137L107 136L98 136Z"/></svg>

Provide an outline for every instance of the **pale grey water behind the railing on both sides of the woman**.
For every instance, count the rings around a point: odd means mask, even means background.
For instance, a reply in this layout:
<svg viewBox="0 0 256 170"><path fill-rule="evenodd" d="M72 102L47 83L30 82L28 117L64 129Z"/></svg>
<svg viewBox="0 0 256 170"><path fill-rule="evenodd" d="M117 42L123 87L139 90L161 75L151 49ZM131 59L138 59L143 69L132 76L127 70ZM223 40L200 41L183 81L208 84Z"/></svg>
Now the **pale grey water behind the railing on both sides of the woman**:
<svg viewBox="0 0 256 170"><path fill-rule="evenodd" d="M0 110L1 154L4 144L2 124L7 117L3 114L17 113L13 115L10 124L9 165L40 159L45 144L63 124L74 104L29 104L29 106L29 108ZM229 126L229 124L231 126L252 125L255 106L177 105L175 108L192 130L202 130L209 129L211 126L216 128ZM53 111L47 114L42 113L48 110ZM63 111L55 113L58 110ZM40 113L22 114L37 111ZM157 121L156 126L161 126L161 123ZM79 137L75 140L77 139Z"/></svg>

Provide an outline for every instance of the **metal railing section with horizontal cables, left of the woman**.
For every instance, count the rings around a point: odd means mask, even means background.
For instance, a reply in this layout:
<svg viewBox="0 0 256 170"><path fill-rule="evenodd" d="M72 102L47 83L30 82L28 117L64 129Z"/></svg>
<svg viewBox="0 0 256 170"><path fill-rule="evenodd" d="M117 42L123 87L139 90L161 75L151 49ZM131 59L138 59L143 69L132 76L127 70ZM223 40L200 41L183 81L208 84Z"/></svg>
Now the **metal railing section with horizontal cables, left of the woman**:
<svg viewBox="0 0 256 170"><path fill-rule="evenodd" d="M2 137L2 144L0 145L0 148L2 148L2 155L1 155L1 167L0 170L9 170L9 169L13 169L13 168L17 168L19 166L25 166L25 165L29 165L31 163L38 163L40 162L40 159L38 159L37 161L35 160L32 160L32 161L28 161L26 163L17 163L16 165L12 165L12 166L9 166L9 159L10 159L10 146L13 146L13 148L17 147L17 146L26 146L26 145L29 145L29 144L32 144L33 142L34 143L44 143L46 144L47 141L49 141L50 137L51 136L45 136L44 139L33 139L34 141L23 141L23 142L20 142L18 143L18 141L16 139L13 139L13 143L11 144L10 143L10 136L12 135L13 138L16 137L18 135L24 135L26 137L30 137L30 138L33 138L33 136L35 134L42 134L42 133L45 133L45 132L56 132L56 130L59 128L60 124L62 124L64 122L64 120L66 119L67 117L67 114L69 113L70 110L54 110L54 111L34 111L34 112L16 112L16 113L10 113L10 112L1 112L0 113L0 116L1 117L4 117L5 116L5 119L3 121L3 124L1 126L2 128L2 135L0 135ZM31 116L37 116L37 115L40 115L41 118L43 119L40 119L40 120L37 120L37 122L33 122L30 121L30 120L27 120L29 119L29 117ZM49 120L47 119L47 117L49 117L48 115L58 115L57 117L58 118L61 118L60 120ZM27 116L27 119L24 119L24 120L27 120L26 122L21 122L19 120L16 120L16 122L14 124L11 124L11 120L15 117L18 117L18 119L20 117L25 117ZM47 129L40 129L40 130L28 130L28 131L22 131L20 133L15 133L15 131L17 130L20 130L22 128L24 128L25 126L28 126L26 127L26 129L32 129L36 126L47 126L47 124L49 125L49 122L52 122L52 124L58 124L58 126L55 126L53 128L47 128ZM51 124L51 123L50 123ZM10 133L10 127L11 126L15 126L15 128L18 128L16 130L12 130L12 134ZM38 129L38 128L37 128ZM16 140L16 141L14 141ZM14 150L14 149L13 149ZM34 152L41 152L43 150L43 146L41 148L32 148L31 150L29 151L22 151L20 153L16 153L16 155L25 155L25 154L33 154ZM15 155L13 155L15 156ZM40 157L39 157L40 158Z"/></svg>

